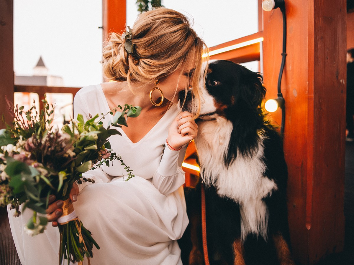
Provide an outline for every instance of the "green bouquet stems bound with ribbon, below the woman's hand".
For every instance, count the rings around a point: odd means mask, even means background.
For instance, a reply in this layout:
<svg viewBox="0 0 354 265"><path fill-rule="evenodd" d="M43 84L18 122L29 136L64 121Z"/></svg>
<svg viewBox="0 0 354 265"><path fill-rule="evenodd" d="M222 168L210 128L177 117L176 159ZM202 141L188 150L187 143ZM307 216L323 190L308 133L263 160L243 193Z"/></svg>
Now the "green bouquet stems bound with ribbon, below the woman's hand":
<svg viewBox="0 0 354 265"><path fill-rule="evenodd" d="M70 199L65 200L61 218L64 217L65 220L66 216L73 215L73 213L75 215L72 201ZM60 223L61 220L60 218L58 219L60 232L59 265L62 265L63 259L67 259L68 264L69 260L73 263L82 264L85 255L90 264L93 245L99 249L96 241L91 236L91 232L84 227L78 217L63 223Z"/></svg>

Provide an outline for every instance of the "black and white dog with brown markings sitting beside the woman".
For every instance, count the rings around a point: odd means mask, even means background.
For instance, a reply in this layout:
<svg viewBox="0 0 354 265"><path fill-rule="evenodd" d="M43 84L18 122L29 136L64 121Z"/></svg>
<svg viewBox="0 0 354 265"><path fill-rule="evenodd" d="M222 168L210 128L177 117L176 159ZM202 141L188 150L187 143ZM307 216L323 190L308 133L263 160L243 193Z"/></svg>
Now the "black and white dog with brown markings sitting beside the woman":
<svg viewBox="0 0 354 265"><path fill-rule="evenodd" d="M205 183L210 264L294 264L287 221L282 139L261 108L262 76L232 61L210 61L197 119ZM183 110L195 111L187 93ZM194 106L194 107L192 107ZM204 264L200 183L186 189L189 227L179 241L184 264Z"/></svg>

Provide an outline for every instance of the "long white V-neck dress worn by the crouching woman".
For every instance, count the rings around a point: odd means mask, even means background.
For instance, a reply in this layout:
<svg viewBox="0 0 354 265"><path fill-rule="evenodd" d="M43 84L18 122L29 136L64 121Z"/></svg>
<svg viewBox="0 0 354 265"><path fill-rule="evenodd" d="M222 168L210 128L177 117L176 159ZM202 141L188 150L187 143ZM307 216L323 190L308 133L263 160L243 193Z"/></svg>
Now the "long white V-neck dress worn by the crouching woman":
<svg viewBox="0 0 354 265"><path fill-rule="evenodd" d="M100 85L84 87L76 94L74 117L81 113L85 119L89 113L94 116L107 112ZM172 106L137 143L131 142L120 128L122 136L109 139L114 152L121 154L133 170L135 177L129 181L124 181L127 172L118 160L84 174L95 179L95 184L79 185L74 208L101 247L93 248L91 264L182 264L176 240L188 224L181 187L185 181L181 165L186 147L171 151L163 146L178 112L177 106ZM107 126L109 118L103 122ZM49 224L45 234L30 237L23 232L23 225L32 216L30 210L18 218L12 214L9 211L10 226L22 264L57 264L58 229Z"/></svg>

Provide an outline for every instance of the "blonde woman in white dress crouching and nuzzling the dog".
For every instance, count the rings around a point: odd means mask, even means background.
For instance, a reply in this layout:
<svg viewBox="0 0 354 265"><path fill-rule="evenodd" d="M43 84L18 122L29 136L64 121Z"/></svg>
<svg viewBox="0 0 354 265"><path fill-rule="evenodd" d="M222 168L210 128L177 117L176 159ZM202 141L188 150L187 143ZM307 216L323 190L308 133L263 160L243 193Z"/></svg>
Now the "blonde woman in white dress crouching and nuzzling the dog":
<svg viewBox="0 0 354 265"><path fill-rule="evenodd" d="M188 224L181 164L198 130L197 114L180 112L176 104L178 92L189 87L199 99L204 47L183 14L167 8L142 13L131 31L123 37L113 33L103 49L104 75L116 82L76 94L75 117L107 113L126 103L142 107L137 118L127 120L129 127L118 129L122 136L110 138L135 177L124 182L126 171L114 162L85 173L95 183L75 185L70 194L76 213L101 247L94 248L91 264L181 264L176 240ZM55 201L48 207L53 226L61 206L62 201ZM11 216L22 264L56 264L58 229L48 227L45 234L27 238L21 232L26 212L17 220Z"/></svg>

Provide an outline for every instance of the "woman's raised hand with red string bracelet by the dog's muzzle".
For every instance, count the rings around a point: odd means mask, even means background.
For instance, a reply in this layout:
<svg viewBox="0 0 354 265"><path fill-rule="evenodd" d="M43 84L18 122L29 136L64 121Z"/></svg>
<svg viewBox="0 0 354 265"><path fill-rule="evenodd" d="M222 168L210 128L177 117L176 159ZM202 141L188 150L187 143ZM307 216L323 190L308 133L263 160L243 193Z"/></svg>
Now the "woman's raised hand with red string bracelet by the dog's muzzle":
<svg viewBox="0 0 354 265"><path fill-rule="evenodd" d="M192 141L197 134L198 125L195 123L192 113L188 111L181 112L173 120L169 128L169 136L167 137L169 148L178 150Z"/></svg>

